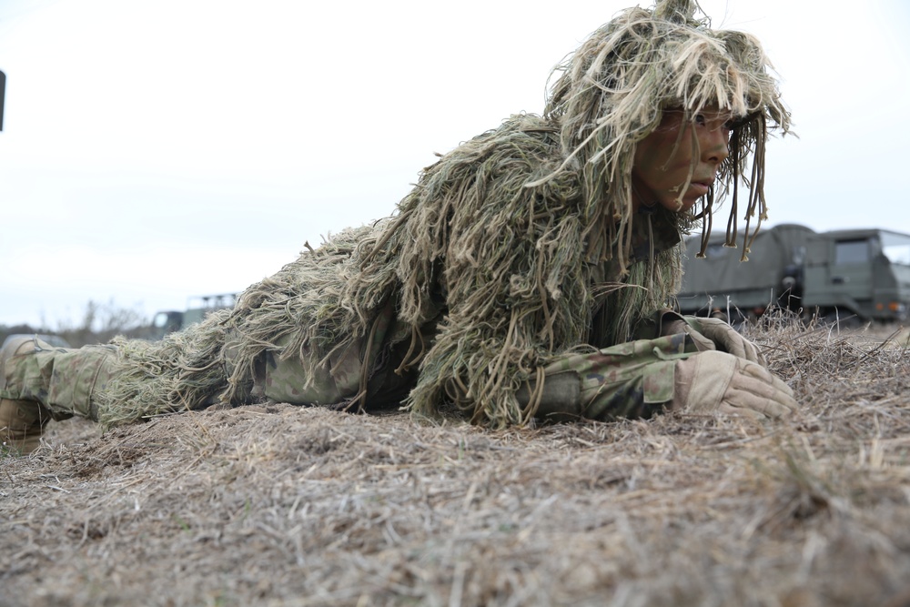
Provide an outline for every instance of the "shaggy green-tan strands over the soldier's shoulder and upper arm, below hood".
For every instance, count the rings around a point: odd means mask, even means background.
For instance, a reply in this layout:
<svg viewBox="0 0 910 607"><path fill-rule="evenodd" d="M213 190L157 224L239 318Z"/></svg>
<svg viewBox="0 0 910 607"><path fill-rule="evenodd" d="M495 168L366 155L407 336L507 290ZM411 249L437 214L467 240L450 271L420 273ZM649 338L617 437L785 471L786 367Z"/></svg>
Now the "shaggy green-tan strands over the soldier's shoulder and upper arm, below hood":
<svg viewBox="0 0 910 607"><path fill-rule="evenodd" d="M559 137L551 120L512 116L443 157L401 202L405 220L389 224L385 246L349 282L355 318L369 318L362 301L392 289L399 318L413 326L430 319L434 291L445 294L448 314L410 393L420 415L453 402L475 422L524 423L515 391L536 369L585 344L624 341L677 287L675 251L639 264L631 283L616 282L618 267L606 272L612 282L598 279L604 260L591 258L590 242L608 238L602 207L585 196L576 171L560 168ZM602 335L591 334L595 306L614 312L604 315L611 322Z"/></svg>

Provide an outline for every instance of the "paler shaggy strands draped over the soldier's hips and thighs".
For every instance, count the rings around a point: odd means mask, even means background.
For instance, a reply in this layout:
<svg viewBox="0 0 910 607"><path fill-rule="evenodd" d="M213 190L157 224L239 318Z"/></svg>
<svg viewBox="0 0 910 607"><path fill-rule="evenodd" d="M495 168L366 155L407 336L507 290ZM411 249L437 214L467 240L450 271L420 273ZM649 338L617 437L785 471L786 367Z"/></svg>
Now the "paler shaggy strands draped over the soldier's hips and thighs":
<svg viewBox="0 0 910 607"><path fill-rule="evenodd" d="M256 361L267 350L298 356L308 377L327 372L329 353L365 330L365 320L351 324L343 291L357 271L352 256L380 227L339 233L250 286L233 310L218 310L161 341L116 339L113 379L99 395L99 421L113 426L215 402L244 404ZM361 303L372 309L379 302Z"/></svg>

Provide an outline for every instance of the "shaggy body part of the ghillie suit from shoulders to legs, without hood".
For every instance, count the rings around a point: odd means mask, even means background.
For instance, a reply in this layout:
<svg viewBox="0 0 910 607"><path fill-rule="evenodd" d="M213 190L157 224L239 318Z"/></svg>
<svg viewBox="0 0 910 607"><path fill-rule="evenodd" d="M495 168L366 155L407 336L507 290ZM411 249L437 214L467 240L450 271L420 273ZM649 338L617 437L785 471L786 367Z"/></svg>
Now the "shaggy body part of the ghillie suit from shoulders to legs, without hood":
<svg viewBox="0 0 910 607"><path fill-rule="evenodd" d="M435 415L454 402L480 423L526 421L514 391L538 367L582 344L627 339L679 278L678 260L668 257L677 253L668 251L636 266L632 286L596 279L600 264L587 257L585 233L600 209L586 204L577 176L563 170L526 187L560 162L558 132L539 116L513 116L463 144L424 171L397 217L304 252L248 288L232 312L160 343L118 341L102 421L248 401L267 350L298 357L310 376L327 373L332 352L362 338L389 298L414 339L440 299L454 302L435 342L416 345L405 361L420 365L415 411ZM612 319L603 335L591 335L595 303L622 310L603 315Z"/></svg>

